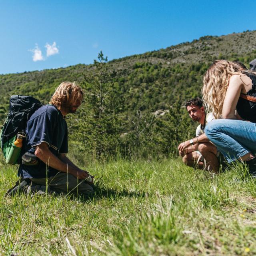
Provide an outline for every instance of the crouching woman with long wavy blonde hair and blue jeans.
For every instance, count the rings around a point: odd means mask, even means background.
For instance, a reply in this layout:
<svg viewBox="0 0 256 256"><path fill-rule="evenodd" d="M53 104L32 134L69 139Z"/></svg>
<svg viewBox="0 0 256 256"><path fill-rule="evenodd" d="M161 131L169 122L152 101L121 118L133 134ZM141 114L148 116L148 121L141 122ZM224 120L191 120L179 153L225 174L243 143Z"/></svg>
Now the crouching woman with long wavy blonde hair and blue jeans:
<svg viewBox="0 0 256 256"><path fill-rule="evenodd" d="M241 160L256 177L256 72L241 62L216 60L204 74L202 94L216 118L206 136L228 163Z"/></svg>

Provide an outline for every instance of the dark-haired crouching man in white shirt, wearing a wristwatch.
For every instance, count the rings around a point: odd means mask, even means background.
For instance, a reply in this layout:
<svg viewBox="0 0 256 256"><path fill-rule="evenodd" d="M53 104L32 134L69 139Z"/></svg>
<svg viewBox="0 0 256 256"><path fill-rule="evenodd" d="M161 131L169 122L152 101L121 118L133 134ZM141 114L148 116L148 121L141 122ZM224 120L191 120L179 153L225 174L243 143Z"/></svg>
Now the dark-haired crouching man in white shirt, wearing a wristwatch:
<svg viewBox="0 0 256 256"><path fill-rule="evenodd" d="M204 128L208 122L214 119L212 113L206 114L203 102L200 98L194 98L186 103L186 109L194 122L199 122L196 128L196 137L182 142L178 146L183 162L191 167L218 171L219 160L216 146L212 144L204 134Z"/></svg>

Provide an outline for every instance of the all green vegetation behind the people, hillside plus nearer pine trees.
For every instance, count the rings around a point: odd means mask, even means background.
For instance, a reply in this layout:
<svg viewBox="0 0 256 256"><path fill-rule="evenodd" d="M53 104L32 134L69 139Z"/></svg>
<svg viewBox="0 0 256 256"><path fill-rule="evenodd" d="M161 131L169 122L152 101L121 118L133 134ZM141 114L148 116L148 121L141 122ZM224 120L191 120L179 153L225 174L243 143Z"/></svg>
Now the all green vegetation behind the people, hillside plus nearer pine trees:
<svg viewBox="0 0 256 256"><path fill-rule="evenodd" d="M255 40L256 31L204 36L110 62L102 55L87 66L0 75L0 122L8 112L11 94L32 95L47 103L61 82L75 80L88 93L77 113L67 118L71 146L103 160L116 150L126 158L170 156L181 138L194 134L196 124L182 106L201 96L208 66L217 58L240 60L248 66L256 58ZM93 96L100 93L100 79L103 95L109 92L103 101ZM96 118L99 110L104 118Z"/></svg>

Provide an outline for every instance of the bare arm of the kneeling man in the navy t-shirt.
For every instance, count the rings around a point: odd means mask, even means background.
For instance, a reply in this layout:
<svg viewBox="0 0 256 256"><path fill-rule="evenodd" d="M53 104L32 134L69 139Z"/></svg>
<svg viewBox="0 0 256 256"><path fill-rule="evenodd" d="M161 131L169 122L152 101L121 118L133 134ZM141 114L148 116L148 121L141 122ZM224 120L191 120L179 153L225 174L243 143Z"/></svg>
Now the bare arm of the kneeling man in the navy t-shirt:
<svg viewBox="0 0 256 256"><path fill-rule="evenodd" d="M62 162L60 158L52 154L46 142L42 142L40 145L36 146L35 156L48 166L59 170L60 172L68 172L69 174L81 180L88 178L87 172L77 168L75 165L72 166L68 163Z"/></svg>

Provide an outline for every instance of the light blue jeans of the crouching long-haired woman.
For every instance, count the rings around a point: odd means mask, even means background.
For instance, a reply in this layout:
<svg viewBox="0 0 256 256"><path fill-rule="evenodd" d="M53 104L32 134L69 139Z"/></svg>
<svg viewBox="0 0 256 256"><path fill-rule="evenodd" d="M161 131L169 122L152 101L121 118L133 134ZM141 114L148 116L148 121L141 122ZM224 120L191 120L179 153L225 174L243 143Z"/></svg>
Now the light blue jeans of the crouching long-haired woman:
<svg viewBox="0 0 256 256"><path fill-rule="evenodd" d="M256 153L256 124L254 123L217 119L209 122L204 132L228 163L240 159L248 152Z"/></svg>

